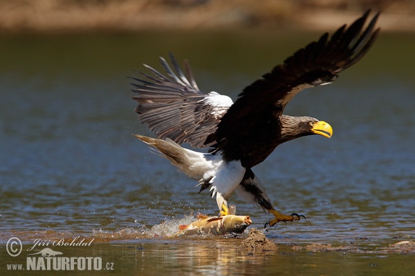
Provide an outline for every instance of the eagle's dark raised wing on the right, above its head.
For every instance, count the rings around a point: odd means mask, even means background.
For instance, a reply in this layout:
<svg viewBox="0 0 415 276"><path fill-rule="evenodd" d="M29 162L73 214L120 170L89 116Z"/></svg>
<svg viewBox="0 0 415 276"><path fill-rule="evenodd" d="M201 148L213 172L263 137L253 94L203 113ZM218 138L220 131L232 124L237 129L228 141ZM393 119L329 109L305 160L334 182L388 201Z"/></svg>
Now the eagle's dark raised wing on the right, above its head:
<svg viewBox="0 0 415 276"><path fill-rule="evenodd" d="M329 38L325 33L318 41L288 57L282 65L246 87L237 101L223 116L214 135L208 141L217 142L232 137L243 139L259 121L282 114L284 107L304 88L331 83L338 73L359 61L374 43L378 30L374 30L378 14L363 29L370 10L349 28L339 28Z"/></svg>

